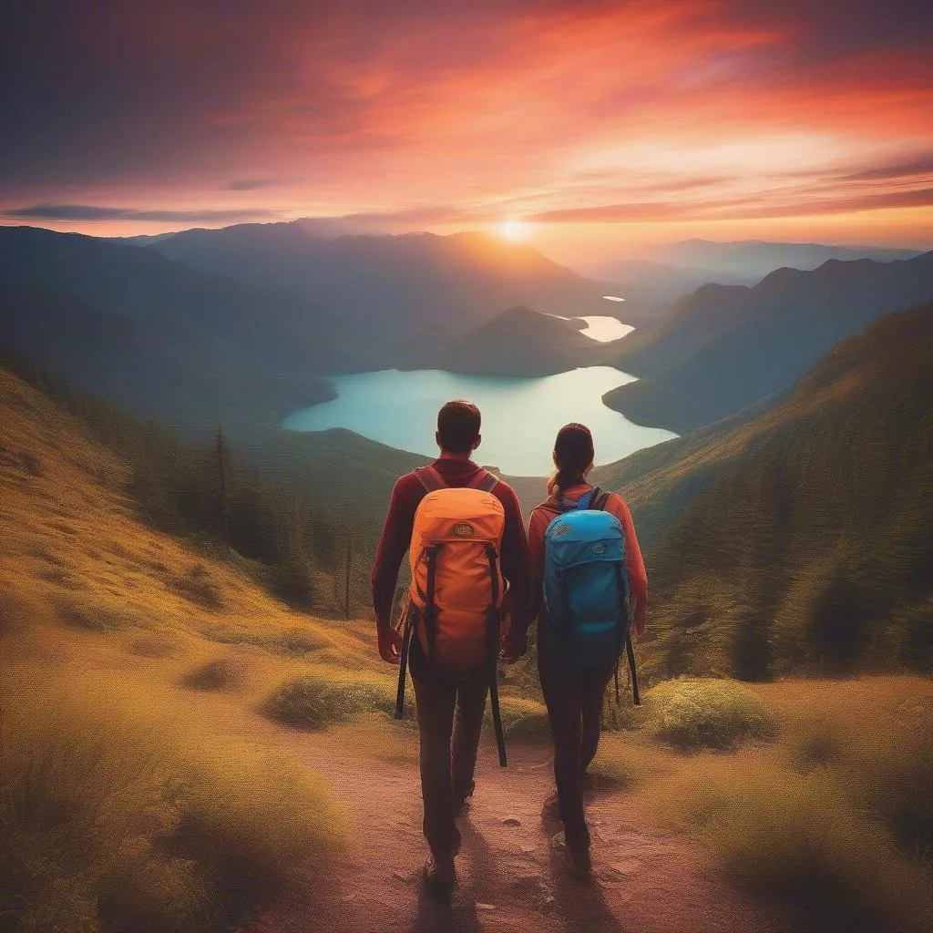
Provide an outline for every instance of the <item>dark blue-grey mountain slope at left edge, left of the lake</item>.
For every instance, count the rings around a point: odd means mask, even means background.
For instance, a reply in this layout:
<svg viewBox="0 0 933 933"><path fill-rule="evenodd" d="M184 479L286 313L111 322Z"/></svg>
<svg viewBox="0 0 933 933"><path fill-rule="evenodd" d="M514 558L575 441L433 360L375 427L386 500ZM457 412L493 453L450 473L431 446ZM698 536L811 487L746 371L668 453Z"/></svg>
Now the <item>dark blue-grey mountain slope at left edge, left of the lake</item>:
<svg viewBox="0 0 933 933"><path fill-rule="evenodd" d="M83 388L172 421L332 396L365 343L307 299L137 246L0 228L0 343Z"/></svg>

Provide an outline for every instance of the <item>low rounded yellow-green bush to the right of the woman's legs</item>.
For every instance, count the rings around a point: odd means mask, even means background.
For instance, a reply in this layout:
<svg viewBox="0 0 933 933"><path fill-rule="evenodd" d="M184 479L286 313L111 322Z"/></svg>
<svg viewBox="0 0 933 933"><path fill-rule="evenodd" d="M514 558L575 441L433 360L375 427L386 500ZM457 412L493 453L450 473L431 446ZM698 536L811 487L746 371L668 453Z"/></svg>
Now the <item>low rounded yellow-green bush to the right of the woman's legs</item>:
<svg viewBox="0 0 933 933"><path fill-rule="evenodd" d="M678 677L648 690L646 700L657 737L680 748L732 748L777 732L767 704L735 680Z"/></svg>

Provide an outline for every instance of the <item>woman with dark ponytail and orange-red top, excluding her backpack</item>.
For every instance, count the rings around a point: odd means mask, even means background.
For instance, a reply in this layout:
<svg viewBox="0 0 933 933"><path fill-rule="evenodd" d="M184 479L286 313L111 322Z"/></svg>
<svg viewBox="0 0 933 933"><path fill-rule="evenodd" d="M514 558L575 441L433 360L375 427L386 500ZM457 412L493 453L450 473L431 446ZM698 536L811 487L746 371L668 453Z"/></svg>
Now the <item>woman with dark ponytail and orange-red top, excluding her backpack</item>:
<svg viewBox="0 0 933 933"><path fill-rule="evenodd" d="M533 574L532 619L538 619L538 673L548 705L550 731L554 742L554 779L557 794L546 801L544 815L556 809L564 823L567 864L578 875L589 875L590 831L583 811L583 775L599 745L603 697L616 667L617 655L606 657L604 664L586 675L570 673L559 650L548 648L541 637L544 615L542 581L545 565L545 532L550 522L592 492L587 476L592 470L593 443L585 425L564 425L554 441L556 472L548 481L548 498L531 515L528 545ZM585 502L585 505L600 505ZM645 632L648 601L648 578L641 550L635 537L632 515L619 494L610 493L603 510L619 519L625 538L625 564L628 571L630 606L634 609L634 632Z"/></svg>

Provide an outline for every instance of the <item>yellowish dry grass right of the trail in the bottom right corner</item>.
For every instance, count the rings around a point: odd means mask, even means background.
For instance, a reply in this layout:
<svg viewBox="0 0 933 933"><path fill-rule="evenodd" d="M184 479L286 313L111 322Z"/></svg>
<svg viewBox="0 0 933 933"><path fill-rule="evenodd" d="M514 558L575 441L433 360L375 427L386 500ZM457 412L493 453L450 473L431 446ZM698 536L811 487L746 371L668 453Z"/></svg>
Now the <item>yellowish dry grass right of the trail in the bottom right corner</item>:
<svg viewBox="0 0 933 933"><path fill-rule="evenodd" d="M929 875L831 769L705 759L655 788L662 813L698 835L739 878L818 928L929 928ZM798 920L798 922L801 922Z"/></svg>

